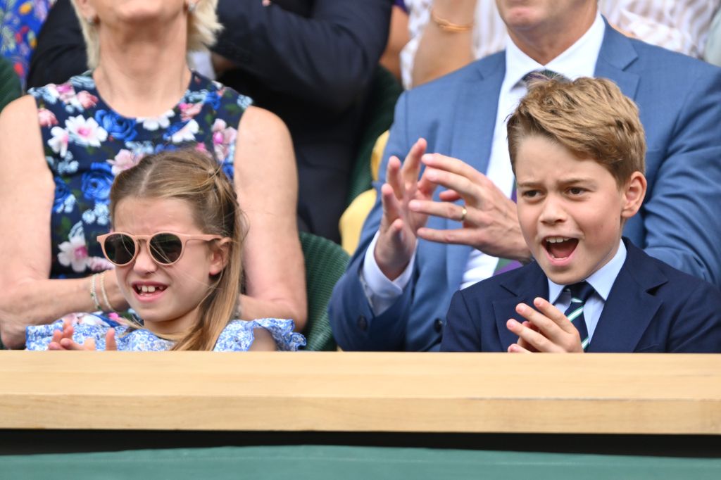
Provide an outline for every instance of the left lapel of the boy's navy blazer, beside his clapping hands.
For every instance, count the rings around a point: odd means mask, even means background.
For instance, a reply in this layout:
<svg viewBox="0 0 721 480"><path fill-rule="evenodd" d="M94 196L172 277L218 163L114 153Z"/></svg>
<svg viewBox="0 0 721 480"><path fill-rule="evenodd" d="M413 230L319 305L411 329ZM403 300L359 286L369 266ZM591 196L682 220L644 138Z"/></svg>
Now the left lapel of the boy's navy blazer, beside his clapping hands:
<svg viewBox="0 0 721 480"><path fill-rule="evenodd" d="M534 298L543 297L548 299L548 280L536 262L523 267L518 272L521 275L512 275L509 280L501 283L501 287L516 295L515 298L492 301L496 329L504 352L508 350L510 344L518 342L518 335L505 326L506 322L508 319L516 319L521 322L524 320L523 317L516 314L516 305L526 303L526 305L532 307ZM505 277L508 277L508 275Z"/></svg>

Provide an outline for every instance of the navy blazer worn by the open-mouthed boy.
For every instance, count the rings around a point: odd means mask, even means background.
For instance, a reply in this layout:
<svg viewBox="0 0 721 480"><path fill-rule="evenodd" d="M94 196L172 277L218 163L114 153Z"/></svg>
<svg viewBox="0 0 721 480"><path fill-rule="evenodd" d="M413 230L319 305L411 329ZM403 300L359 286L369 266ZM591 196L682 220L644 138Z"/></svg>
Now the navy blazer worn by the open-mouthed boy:
<svg viewBox="0 0 721 480"><path fill-rule="evenodd" d="M721 291L649 257L624 239L627 257L587 352L721 352ZM441 350L505 352L518 337L508 319L516 305L548 299L536 262L464 288L448 308Z"/></svg>

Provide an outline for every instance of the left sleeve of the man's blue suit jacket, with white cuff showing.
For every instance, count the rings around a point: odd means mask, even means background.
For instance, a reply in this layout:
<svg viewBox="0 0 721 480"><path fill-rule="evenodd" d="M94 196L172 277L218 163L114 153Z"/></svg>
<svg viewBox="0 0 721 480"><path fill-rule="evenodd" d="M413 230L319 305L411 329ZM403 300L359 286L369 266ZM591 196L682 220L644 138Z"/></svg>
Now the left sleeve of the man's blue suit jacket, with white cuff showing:
<svg viewBox="0 0 721 480"><path fill-rule="evenodd" d="M417 272L413 272L410 282L397 301L379 316L375 316L371 310L359 273L363 267L366 249L381 224L383 207L380 190L386 181L388 159L391 155L403 159L410 149L406 107L407 94L402 94L396 104L394 123L379 169L379 179L373 185L376 190L376 203L363 224L361 240L350 259L348 270L335 285L330 299L330 325L336 342L343 350L404 350Z"/></svg>

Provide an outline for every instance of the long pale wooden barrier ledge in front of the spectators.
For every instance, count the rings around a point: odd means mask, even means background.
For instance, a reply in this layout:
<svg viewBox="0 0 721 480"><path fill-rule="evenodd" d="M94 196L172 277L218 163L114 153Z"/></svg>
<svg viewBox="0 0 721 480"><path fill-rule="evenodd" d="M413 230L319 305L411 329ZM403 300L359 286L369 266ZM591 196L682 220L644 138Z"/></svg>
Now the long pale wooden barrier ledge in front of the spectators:
<svg viewBox="0 0 721 480"><path fill-rule="evenodd" d="M0 429L721 434L721 355L0 352Z"/></svg>

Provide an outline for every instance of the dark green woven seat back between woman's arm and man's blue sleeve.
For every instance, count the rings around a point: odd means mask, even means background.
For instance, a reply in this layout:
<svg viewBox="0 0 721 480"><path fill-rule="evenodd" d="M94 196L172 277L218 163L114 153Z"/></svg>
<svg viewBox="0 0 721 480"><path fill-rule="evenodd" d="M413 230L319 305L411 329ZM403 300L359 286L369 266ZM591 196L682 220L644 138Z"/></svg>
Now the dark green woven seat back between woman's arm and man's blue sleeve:
<svg viewBox="0 0 721 480"><path fill-rule="evenodd" d="M301 232L301 247L308 289L308 324L304 332L308 343L305 350L335 350L328 321L328 301L350 257L335 242L306 232Z"/></svg>

